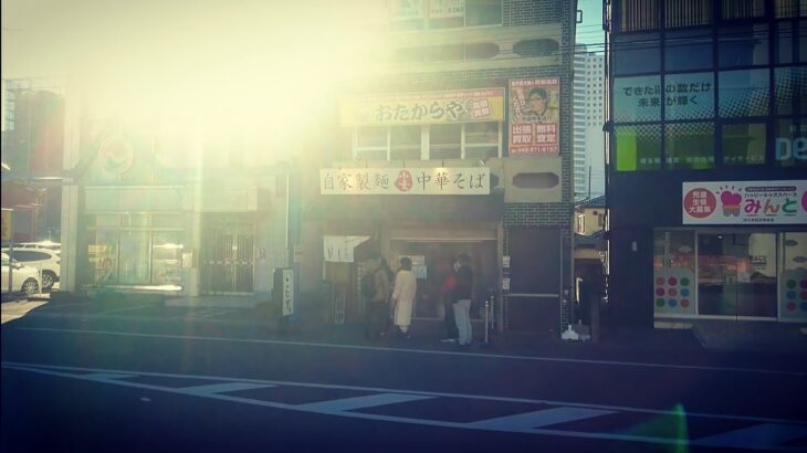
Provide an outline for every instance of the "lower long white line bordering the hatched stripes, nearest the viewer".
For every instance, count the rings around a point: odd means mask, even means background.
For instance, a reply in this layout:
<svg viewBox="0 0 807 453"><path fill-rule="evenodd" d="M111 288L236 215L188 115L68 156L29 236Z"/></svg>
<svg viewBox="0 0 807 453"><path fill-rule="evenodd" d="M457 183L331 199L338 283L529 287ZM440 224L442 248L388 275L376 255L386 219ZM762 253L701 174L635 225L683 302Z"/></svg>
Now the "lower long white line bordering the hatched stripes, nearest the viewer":
<svg viewBox="0 0 807 453"><path fill-rule="evenodd" d="M80 380L92 380L92 379L85 378L84 377L85 375L83 376L83 375L76 375L76 373L70 373L70 372L54 371L51 369L42 369L42 368L38 368L36 366L31 366L31 365L23 366L23 365L12 365L10 362L2 362L2 366L3 366L3 368L11 368L11 369L20 370L20 371L36 372L36 373L42 373L42 375L50 375L50 376L80 379ZM67 367L62 367L62 368L67 368ZM155 373L143 373L143 375L155 375ZM473 430L481 429L481 430L486 430L486 431L501 431L499 429L491 429L491 428L484 426L484 425L478 426L473 423L447 422L447 421L438 421L438 420L430 420L430 419L411 419L411 418L405 418L405 417L391 417L391 415L369 414L369 413L361 413L361 412L349 412L349 411L336 412L336 413L321 412L318 410L312 410L311 408L305 409L306 404L302 404L302 405L285 404L285 403L279 403L279 402L273 402L273 401L231 397L231 396L221 394L221 393L205 393L205 394L187 393L182 389L145 384L145 383L130 382L130 381L125 381L125 380L108 380L108 381L95 381L95 382L113 383L113 384L117 384L117 386L122 386L122 387L148 389L148 390L163 391L163 392L168 392L168 393L179 393L179 394L209 398L209 399L221 400L221 401L253 404L253 405L268 407L268 408L274 408L274 409L296 410L296 411L302 411L302 412L318 413L318 414L325 414L325 415L338 415L338 417L346 417L346 418L353 418L353 419L388 421L388 422L430 425L430 426L440 426L440 428L457 428L457 429L473 429ZM316 405L314 405L314 408L316 408ZM579 438L579 439L596 439L596 440L609 440L609 441L644 442L644 443L678 445L678 446L682 446L682 447L685 447L685 446L691 445L694 442L696 442L696 441L692 441L690 439L653 438L653 436L639 436L639 435L629 435L629 434L619 434L619 433L560 431L560 430L549 430L549 429L532 429L532 430L528 430L527 432L530 434L564 436L564 438ZM737 449L759 450L758 446L748 445L748 444L736 445L736 447ZM788 452L789 451L803 451L803 449L797 449L797 447L794 449L794 447L777 446L777 445L772 445L772 446L767 447L767 450L788 451Z"/></svg>

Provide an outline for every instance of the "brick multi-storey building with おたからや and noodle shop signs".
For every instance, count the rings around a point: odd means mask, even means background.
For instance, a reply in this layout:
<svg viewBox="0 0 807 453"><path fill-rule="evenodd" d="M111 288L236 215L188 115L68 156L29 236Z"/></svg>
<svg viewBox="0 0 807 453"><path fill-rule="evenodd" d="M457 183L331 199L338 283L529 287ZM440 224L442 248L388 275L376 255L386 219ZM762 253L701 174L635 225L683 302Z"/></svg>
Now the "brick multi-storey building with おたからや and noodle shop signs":
<svg viewBox="0 0 807 453"><path fill-rule="evenodd" d="M368 250L411 257L416 319L442 317L465 252L501 328L568 322L574 18L565 1L388 2L375 70L340 93L333 154L303 179L303 286L326 283L336 322L363 317Z"/></svg>

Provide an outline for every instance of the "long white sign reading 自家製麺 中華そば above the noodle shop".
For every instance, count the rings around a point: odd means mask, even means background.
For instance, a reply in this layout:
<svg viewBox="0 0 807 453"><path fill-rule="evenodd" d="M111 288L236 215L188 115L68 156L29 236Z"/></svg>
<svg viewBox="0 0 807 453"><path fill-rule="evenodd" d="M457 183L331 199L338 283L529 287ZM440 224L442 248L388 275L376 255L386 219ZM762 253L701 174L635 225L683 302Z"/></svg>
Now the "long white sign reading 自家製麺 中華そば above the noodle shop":
<svg viewBox="0 0 807 453"><path fill-rule="evenodd" d="M489 194L491 170L476 168L325 168L322 194Z"/></svg>

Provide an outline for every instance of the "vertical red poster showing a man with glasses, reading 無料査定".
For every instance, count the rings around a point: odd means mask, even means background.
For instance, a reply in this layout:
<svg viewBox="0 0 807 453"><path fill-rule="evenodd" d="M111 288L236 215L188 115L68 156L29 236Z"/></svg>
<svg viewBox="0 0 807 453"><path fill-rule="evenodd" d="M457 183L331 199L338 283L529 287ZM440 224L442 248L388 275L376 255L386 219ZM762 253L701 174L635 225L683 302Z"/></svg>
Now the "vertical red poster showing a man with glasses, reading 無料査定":
<svg viewBox="0 0 807 453"><path fill-rule="evenodd" d="M510 155L558 154L560 82L525 78L510 82Z"/></svg>

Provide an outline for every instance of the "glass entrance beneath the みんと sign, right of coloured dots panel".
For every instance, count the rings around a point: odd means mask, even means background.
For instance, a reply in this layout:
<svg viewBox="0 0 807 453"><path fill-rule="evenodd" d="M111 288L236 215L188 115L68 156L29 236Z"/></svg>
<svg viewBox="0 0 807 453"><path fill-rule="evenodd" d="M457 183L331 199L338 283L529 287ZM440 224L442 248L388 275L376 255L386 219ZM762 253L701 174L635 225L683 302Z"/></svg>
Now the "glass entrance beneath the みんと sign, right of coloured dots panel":
<svg viewBox="0 0 807 453"><path fill-rule="evenodd" d="M776 318L775 233L698 234L698 314Z"/></svg>

